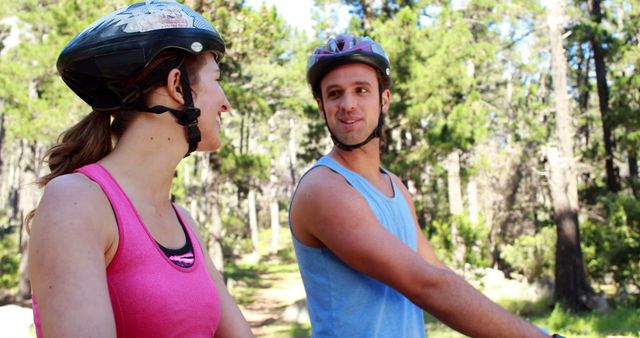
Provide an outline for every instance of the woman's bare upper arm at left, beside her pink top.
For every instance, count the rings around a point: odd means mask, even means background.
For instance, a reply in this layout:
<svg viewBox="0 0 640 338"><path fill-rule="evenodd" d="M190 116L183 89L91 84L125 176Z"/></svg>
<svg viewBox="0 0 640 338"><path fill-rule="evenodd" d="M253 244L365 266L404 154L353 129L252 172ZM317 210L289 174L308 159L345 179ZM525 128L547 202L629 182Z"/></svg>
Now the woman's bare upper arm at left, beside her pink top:
<svg viewBox="0 0 640 338"><path fill-rule="evenodd" d="M105 253L117 231L95 183L80 174L49 182L29 242L31 284L45 337L116 336Z"/></svg>

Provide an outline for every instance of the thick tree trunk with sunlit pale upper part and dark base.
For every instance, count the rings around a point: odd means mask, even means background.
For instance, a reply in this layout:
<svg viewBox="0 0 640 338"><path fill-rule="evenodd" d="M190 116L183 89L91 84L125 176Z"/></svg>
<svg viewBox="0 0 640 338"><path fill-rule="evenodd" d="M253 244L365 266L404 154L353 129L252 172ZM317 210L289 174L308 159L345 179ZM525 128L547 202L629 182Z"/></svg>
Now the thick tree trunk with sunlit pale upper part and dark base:
<svg viewBox="0 0 640 338"><path fill-rule="evenodd" d="M547 16L551 40L551 68L556 109L556 138L559 149L549 147L547 164L549 189L557 224L555 299L568 310L586 308L591 289L587 283L578 224L578 188L573 158L573 126L567 93L567 61L562 27L562 2L552 1Z"/></svg>

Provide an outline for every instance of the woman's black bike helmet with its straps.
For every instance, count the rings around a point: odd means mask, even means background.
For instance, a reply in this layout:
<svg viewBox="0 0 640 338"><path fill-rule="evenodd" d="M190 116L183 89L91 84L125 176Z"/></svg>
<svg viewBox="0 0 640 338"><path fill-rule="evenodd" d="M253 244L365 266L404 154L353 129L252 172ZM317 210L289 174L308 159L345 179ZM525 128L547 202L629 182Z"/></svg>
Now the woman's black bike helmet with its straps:
<svg viewBox="0 0 640 338"><path fill-rule="evenodd" d="M136 109L161 114L171 112L187 129L189 155L200 142L198 116L183 58L157 66L139 83L123 88L125 80L140 75L162 51L211 52L220 61L225 52L218 31L202 15L173 1L139 2L99 19L62 50L57 67L64 82L95 111ZM167 73L181 70L185 108L147 107L141 102Z"/></svg>

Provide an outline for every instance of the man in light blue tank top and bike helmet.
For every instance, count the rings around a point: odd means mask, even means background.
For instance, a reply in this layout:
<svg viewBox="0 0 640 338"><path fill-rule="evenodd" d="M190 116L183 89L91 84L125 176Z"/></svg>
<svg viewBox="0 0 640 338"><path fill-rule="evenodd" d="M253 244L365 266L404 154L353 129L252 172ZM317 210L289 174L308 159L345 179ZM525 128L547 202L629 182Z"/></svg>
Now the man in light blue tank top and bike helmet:
<svg viewBox="0 0 640 338"><path fill-rule="evenodd" d="M307 81L334 142L298 184L290 225L313 337L424 337L423 310L473 337L544 337L447 269L398 177L380 167L390 64L369 38L313 53Z"/></svg>

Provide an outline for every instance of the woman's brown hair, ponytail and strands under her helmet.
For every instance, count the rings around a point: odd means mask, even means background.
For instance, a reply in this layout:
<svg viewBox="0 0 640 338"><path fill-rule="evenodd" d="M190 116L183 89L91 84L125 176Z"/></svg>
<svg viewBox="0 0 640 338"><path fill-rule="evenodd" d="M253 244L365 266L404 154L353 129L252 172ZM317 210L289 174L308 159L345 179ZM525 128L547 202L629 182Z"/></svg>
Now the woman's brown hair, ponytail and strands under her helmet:
<svg viewBox="0 0 640 338"><path fill-rule="evenodd" d="M202 54L193 55L178 50L167 50L155 57L141 74L123 81L122 87L126 88L130 84L140 82L158 66L176 58L184 58L189 73L189 82L192 85L198 83L198 72L205 64L205 58L202 57ZM158 83L154 88L165 83L166 79L165 82ZM62 132L58 137L57 144L46 152L44 161L48 164L50 173L40 177L37 184L44 187L58 176L70 174L80 167L97 162L107 156L113 150L114 141L117 141L124 134L137 115L138 112L132 110L113 112L94 110L89 113L80 122ZM25 217L27 229L35 212L36 209L31 210Z"/></svg>

